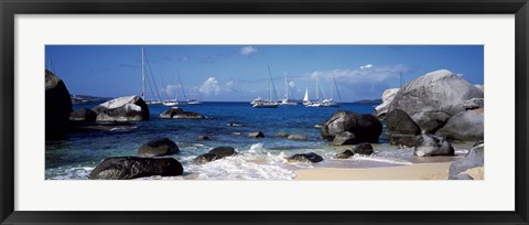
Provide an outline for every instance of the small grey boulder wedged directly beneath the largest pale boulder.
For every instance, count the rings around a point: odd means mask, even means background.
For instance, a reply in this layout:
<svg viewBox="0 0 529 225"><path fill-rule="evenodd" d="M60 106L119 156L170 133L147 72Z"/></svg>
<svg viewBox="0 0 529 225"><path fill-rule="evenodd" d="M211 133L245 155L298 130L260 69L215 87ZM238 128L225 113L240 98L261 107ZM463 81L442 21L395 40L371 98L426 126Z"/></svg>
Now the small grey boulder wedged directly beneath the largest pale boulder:
<svg viewBox="0 0 529 225"><path fill-rule="evenodd" d="M411 117L421 128L422 133L434 133L446 124L450 115L442 111L421 111Z"/></svg>

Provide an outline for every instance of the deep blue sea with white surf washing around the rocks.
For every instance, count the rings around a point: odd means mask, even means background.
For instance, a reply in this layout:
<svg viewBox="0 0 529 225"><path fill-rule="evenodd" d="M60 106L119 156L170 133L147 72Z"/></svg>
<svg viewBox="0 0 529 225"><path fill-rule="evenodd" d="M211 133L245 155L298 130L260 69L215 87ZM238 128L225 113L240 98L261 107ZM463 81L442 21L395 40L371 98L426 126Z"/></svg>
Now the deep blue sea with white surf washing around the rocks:
<svg viewBox="0 0 529 225"><path fill-rule="evenodd" d="M98 103L74 105L74 110L93 108ZM166 106L150 106L151 119L134 122L123 129L79 131L68 133L64 140L45 144L45 178L51 180L83 180L105 158L137 156L138 148L155 138L170 138L181 152L170 156L184 165L184 180L290 180L293 171L312 167L393 167L415 163L411 149L387 144L384 136L375 144L371 157L355 157L334 160L344 147L333 147L320 138L320 124L336 110L373 114L374 104L343 104L339 108L305 108L280 106L279 108L252 108L249 103L203 103L181 106L206 119L160 119ZM241 127L229 127L237 122ZM264 138L248 138L248 132L262 131ZM303 135L307 140L288 140L276 137L277 132ZM209 140L198 140L208 136ZM192 159L218 146L231 146L241 154L205 164L195 164ZM325 161L317 164L289 164L285 158L301 152L316 152ZM151 178L156 179L156 178ZM158 178L160 179L160 178ZM168 178L164 178L168 179Z"/></svg>

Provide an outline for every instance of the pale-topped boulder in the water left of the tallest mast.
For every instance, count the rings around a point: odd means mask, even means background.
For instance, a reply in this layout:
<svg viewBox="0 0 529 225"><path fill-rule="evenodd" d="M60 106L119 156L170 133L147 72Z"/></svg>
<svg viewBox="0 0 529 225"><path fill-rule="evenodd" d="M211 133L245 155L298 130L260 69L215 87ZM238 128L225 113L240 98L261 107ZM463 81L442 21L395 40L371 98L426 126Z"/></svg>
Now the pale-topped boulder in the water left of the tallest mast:
<svg viewBox="0 0 529 225"><path fill-rule="evenodd" d="M149 106L140 96L125 96L108 100L93 108L97 121L149 120Z"/></svg>

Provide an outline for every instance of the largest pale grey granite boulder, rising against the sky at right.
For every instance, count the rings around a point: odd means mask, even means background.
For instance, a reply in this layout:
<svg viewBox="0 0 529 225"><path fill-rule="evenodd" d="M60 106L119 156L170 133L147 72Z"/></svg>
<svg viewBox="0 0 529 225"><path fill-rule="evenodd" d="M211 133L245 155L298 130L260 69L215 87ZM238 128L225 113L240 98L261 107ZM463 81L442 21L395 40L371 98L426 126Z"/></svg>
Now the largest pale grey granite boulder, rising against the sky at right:
<svg viewBox="0 0 529 225"><path fill-rule="evenodd" d="M483 98L483 90L446 71L435 71L406 84L395 96L388 111L401 109L411 117L421 111L456 115L465 111L463 103Z"/></svg>

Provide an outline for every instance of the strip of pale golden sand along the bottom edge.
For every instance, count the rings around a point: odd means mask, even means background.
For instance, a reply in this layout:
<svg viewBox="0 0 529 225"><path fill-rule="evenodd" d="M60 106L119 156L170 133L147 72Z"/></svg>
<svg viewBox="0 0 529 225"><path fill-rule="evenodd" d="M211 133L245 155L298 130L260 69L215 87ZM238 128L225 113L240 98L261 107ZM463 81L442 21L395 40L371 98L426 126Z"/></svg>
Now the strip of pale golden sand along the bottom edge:
<svg viewBox="0 0 529 225"><path fill-rule="evenodd" d="M450 162L369 169L319 168L298 170L294 180L446 180L449 168Z"/></svg>

